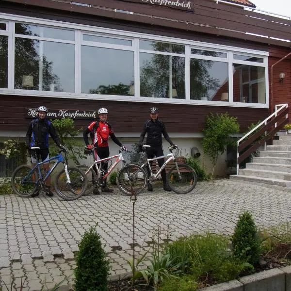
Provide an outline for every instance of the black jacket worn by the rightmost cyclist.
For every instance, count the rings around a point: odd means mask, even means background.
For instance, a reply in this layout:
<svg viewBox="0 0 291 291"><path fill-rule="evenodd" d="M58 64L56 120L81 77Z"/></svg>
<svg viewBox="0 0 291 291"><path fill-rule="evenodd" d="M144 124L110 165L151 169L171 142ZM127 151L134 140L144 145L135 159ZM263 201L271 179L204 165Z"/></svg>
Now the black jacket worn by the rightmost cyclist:
<svg viewBox="0 0 291 291"><path fill-rule="evenodd" d="M140 135L139 143L143 142L146 133L146 144L149 146L162 146L162 134L171 146L174 145L166 131L164 123L160 119L146 121Z"/></svg>

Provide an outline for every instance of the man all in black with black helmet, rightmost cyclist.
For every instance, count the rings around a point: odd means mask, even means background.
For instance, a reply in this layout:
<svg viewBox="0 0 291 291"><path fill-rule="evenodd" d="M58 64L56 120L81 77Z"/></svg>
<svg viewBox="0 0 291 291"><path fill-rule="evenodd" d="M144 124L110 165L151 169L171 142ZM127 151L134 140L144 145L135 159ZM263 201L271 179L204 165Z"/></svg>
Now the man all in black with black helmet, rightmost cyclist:
<svg viewBox="0 0 291 291"><path fill-rule="evenodd" d="M148 159L152 159L155 157L163 156L163 150L162 150L162 134L166 141L171 145L174 146L174 143L171 141L164 123L162 120L158 118L159 116L159 109L156 107L152 107L149 110L150 113L150 120L146 121L144 124L143 130L141 132L140 138L139 138L139 144L138 146L141 148L143 145L143 141L145 138L145 135L147 133L146 137L146 144L150 147L146 148L146 156ZM164 160L159 159L158 160L159 167L161 168ZM171 191L170 186L166 182L166 172L165 169L161 172L162 176L162 182L163 182L163 189L165 191ZM153 186L151 183L147 184L147 191L153 191Z"/></svg>

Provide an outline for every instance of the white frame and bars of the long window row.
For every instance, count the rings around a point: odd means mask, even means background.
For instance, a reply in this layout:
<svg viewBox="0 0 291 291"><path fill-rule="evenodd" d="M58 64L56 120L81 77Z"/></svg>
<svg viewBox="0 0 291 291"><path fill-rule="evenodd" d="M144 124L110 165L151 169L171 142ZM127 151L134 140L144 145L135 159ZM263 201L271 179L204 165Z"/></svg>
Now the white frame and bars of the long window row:
<svg viewBox="0 0 291 291"><path fill-rule="evenodd" d="M245 48L238 48L226 45L218 45L213 43L206 43L206 42L198 42L180 38L173 38L167 37L162 35L152 35L152 34L145 34L140 32L128 32L122 31L117 29L110 29L110 28L100 28L95 26L88 26L82 24L72 24L69 22L61 22L56 20L46 20L41 18L33 18L28 16L16 16L10 14L0 13L0 21L8 22L8 26L6 26L6 31L0 31L0 35L8 35L9 36L9 52L15 49L15 22L21 23L28 23L32 25L40 25L40 26L48 26L51 28L64 28L64 29L72 29L75 30L75 41L68 41L68 40L58 40L58 39L49 39L49 38L41 38L41 37L33 37L27 35L17 34L19 37L27 37L27 38L34 38L38 40L46 40L46 41L53 41L53 42L61 42L61 43L74 43L75 44L75 93L64 93L64 92L50 92L50 91L34 91L34 90L15 90L13 89L14 86L14 53L9 53L8 56L8 88L0 88L0 94L10 94L10 95L32 95L32 96L47 96L47 97L71 97L71 98L80 98L80 99L104 99L104 100L123 100L123 101L145 101L145 102L152 102L152 97L141 97L139 95L139 53L140 52L153 52L150 50L139 50L139 39L144 40L151 40L151 41L159 41L159 42L167 42L173 43L178 45L185 46L185 54L173 54L173 53L166 53L166 52L158 52L154 51L154 53L161 53L161 54L169 54L175 55L180 57L185 57L185 94L186 99L171 99L169 98L155 98L155 102L161 103L171 103L171 104L205 104L205 105L217 105L217 106L234 106L234 107L254 107L254 108L269 108L269 80L268 80L268 55L267 51L260 51L254 49L245 49ZM8 28L8 29L7 29ZM103 44L91 42L90 46L97 46L97 47L106 47L106 48L113 48L113 49L123 49L123 50L133 50L134 51L134 96L113 96L113 95L94 95L94 94L81 94L81 76L80 76L80 69L81 69L81 45L86 45L87 41L82 41L81 34L99 34L100 36L108 36L108 37L118 37L121 39L131 39L132 40L132 47L129 46L120 46L120 45L111 45L111 44ZM88 44L89 45L89 44ZM121 48L122 47L122 48ZM213 50L213 51L221 51L227 53L227 58L219 58L219 57L208 57L204 55L194 55L191 54L191 48L194 49L204 49L204 50ZM256 56L263 59L263 63L256 63L256 62L247 62L247 61L239 61L233 60L233 53L241 54L246 56ZM201 101L201 100L190 100L190 72L189 72L189 60L191 57L201 59L208 59L218 61L228 62L228 75L229 75L229 100L228 102L221 102L221 101ZM238 103L233 102L232 97L232 62L237 64L246 64L246 65L256 65L262 66L265 68L265 92L266 92L266 103ZM169 102L170 101L170 102Z"/></svg>

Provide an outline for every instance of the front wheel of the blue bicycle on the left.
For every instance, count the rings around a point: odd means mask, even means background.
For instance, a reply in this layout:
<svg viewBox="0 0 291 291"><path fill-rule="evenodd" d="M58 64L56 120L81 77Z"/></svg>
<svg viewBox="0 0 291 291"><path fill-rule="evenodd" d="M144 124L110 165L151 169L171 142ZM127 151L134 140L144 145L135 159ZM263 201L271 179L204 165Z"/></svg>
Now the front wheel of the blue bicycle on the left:
<svg viewBox="0 0 291 291"><path fill-rule="evenodd" d="M55 191L65 200L76 200L80 198L87 189L87 178L85 173L76 168L68 168L70 182L67 180L65 169L62 170L55 178Z"/></svg>

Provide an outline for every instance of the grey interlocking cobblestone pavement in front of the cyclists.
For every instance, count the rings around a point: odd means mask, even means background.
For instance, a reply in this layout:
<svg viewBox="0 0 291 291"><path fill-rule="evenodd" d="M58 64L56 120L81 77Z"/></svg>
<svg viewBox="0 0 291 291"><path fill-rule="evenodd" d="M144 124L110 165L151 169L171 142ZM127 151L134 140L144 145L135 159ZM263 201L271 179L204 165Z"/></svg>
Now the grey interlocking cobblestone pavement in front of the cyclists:
<svg viewBox="0 0 291 291"><path fill-rule="evenodd" d="M258 226L270 226L291 220L290 205L289 189L228 179L198 182L186 195L145 191L135 203L136 251L149 248L158 226L163 239L168 226L171 239L204 230L230 234L243 210L251 211ZM62 289L68 290L74 252L84 231L96 223L112 275L125 274L132 254L132 202L117 189L76 201L1 195L0 287L3 282L9 287L14 275L19 288L26 274L23 291L49 289L64 279Z"/></svg>

